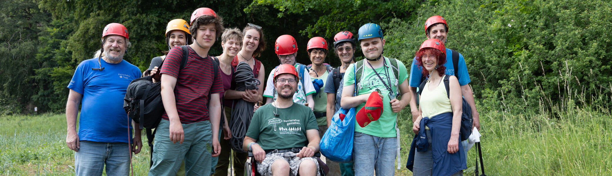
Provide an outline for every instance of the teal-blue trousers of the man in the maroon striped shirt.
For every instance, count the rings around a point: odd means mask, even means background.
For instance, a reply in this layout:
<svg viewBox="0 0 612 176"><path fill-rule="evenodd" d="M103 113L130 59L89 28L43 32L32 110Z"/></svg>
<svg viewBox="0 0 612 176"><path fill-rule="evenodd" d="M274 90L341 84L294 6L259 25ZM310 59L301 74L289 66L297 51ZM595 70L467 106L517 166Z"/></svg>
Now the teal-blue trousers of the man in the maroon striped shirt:
<svg viewBox="0 0 612 176"><path fill-rule="evenodd" d="M149 175L175 175L185 160L185 175L211 175L212 131L208 120L182 124L183 144L170 141L170 121L157 126L153 145L153 166Z"/></svg>

